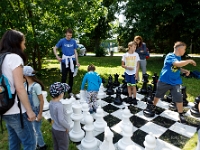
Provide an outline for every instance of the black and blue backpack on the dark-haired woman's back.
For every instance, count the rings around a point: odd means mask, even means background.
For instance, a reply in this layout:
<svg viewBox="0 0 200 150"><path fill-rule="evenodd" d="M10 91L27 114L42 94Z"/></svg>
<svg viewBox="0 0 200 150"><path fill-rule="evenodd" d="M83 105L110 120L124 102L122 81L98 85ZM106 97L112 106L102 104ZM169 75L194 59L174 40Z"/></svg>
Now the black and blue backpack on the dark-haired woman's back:
<svg viewBox="0 0 200 150"><path fill-rule="evenodd" d="M1 129L3 129L2 126L2 116L4 113L6 113L15 103L15 96L16 91L14 94L11 93L10 84L6 76L2 74L2 64L5 56L7 53L0 54L0 122L1 122ZM18 99L19 101L19 99ZM18 103L18 107L20 109L21 114L21 107L20 102ZM21 122L22 123L22 122ZM23 127L23 125L22 125ZM3 131L3 130L2 130Z"/></svg>

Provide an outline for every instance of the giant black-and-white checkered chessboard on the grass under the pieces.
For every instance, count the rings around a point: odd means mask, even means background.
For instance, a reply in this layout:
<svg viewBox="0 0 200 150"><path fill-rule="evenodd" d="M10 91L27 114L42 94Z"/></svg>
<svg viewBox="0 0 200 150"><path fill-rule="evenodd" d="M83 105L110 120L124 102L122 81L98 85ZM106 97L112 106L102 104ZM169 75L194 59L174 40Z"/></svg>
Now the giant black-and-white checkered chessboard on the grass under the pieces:
<svg viewBox="0 0 200 150"><path fill-rule="evenodd" d="M122 130L119 127L119 123L122 120L123 109L127 105L125 103L115 105L113 103L114 98L115 95L102 99L101 106L104 110L104 120L114 133L113 143L117 149L116 143L122 138ZM126 98L126 96L122 95L122 98ZM138 104L136 106L128 106L132 114L130 121L133 124L133 136L131 139L135 143L137 150L144 149L145 136L150 132L156 137L156 150L162 150L163 148L181 150L195 134L198 125L200 125L200 118L195 118L190 114L190 108L194 105L193 103L188 103L188 106L184 108L187 123L182 124L178 122L178 113L169 110L167 101L160 100L157 104L156 115L148 118L143 115L143 109L147 106L144 96L137 94L137 100ZM92 115L95 120L95 114ZM104 132L94 131L93 133L99 144L103 142ZM77 145L78 149L81 150L80 143L77 143Z"/></svg>

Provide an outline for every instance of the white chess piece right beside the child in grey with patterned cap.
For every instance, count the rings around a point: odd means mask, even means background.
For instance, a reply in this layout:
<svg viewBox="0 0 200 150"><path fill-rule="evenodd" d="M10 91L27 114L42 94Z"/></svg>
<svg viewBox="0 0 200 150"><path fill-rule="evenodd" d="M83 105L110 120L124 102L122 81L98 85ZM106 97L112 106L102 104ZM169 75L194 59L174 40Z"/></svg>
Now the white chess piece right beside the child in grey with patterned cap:
<svg viewBox="0 0 200 150"><path fill-rule="evenodd" d="M63 104L65 108L65 112L66 112L66 115L64 116L64 118L68 122L70 126L70 130L71 130L74 126L74 122L71 119L71 114L73 113L73 110L72 110L73 99L62 99L60 101Z"/></svg>

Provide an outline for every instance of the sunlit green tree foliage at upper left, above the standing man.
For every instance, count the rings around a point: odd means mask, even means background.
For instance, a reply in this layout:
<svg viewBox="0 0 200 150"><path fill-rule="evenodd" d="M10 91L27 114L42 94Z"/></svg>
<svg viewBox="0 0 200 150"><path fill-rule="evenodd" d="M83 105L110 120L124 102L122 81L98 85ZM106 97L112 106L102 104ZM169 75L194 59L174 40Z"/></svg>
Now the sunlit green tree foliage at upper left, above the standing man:
<svg viewBox="0 0 200 150"><path fill-rule="evenodd" d="M101 0L7 0L0 1L0 12L0 35L9 28L22 31L29 64L36 70L66 28L74 29L75 36L90 32L104 14Z"/></svg>

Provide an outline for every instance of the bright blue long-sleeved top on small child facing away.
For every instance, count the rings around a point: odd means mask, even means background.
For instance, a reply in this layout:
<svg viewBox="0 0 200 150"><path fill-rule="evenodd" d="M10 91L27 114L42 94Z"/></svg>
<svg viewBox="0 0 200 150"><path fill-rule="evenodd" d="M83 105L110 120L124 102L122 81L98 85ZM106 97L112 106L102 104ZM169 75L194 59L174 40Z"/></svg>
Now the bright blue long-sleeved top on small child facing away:
<svg viewBox="0 0 200 150"><path fill-rule="evenodd" d="M99 87L101 85L102 79L98 75L98 73L94 71L89 71L85 74L82 84L81 90L84 89L85 83L88 84L87 91L99 91Z"/></svg>

